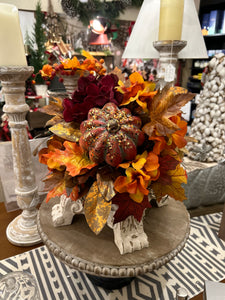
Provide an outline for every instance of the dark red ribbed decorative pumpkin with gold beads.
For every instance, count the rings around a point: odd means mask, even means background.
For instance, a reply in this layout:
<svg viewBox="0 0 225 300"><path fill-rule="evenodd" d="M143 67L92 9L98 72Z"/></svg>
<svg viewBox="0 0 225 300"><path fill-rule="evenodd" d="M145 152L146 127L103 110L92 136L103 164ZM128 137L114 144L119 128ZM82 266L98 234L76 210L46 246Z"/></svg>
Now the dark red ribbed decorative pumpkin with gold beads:
<svg viewBox="0 0 225 300"><path fill-rule="evenodd" d="M145 139L140 127L140 118L132 116L129 109L107 103L102 109L90 109L88 120L81 123L80 147L89 151L95 163L106 161L116 167L137 155L137 146Z"/></svg>

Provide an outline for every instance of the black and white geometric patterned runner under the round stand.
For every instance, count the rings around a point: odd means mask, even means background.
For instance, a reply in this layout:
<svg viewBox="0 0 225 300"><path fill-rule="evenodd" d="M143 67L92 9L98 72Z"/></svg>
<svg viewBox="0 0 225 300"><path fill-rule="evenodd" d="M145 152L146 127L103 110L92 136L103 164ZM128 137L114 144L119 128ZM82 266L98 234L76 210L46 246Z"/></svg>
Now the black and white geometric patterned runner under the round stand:
<svg viewBox="0 0 225 300"><path fill-rule="evenodd" d="M33 274L43 300L174 300L179 287L191 298L203 291L205 280L225 278L225 242L217 236L221 218L222 213L192 218L189 239L174 259L119 290L94 286L45 246L0 261L0 276L18 270Z"/></svg>

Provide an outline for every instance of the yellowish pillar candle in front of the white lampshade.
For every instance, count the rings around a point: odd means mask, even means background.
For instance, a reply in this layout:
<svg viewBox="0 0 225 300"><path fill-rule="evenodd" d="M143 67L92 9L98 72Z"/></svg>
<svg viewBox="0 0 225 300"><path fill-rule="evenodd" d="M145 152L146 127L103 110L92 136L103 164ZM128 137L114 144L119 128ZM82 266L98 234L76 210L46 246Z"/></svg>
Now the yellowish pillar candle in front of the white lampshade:
<svg viewBox="0 0 225 300"><path fill-rule="evenodd" d="M161 0L158 40L180 40L184 0Z"/></svg>

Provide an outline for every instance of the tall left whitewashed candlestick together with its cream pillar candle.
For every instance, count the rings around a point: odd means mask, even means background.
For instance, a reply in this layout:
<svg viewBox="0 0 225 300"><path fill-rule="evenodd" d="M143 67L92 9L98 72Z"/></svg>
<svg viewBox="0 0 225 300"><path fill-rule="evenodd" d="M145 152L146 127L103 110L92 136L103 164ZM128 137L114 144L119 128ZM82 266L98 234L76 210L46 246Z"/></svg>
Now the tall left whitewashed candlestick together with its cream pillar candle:
<svg viewBox="0 0 225 300"><path fill-rule="evenodd" d="M0 3L0 81L5 98L3 111L9 118L15 193L22 210L8 225L6 235L17 246L30 246L41 241L36 224L38 188L25 119L29 110L25 103L25 81L33 70L33 67L27 66L18 9L14 5Z"/></svg>

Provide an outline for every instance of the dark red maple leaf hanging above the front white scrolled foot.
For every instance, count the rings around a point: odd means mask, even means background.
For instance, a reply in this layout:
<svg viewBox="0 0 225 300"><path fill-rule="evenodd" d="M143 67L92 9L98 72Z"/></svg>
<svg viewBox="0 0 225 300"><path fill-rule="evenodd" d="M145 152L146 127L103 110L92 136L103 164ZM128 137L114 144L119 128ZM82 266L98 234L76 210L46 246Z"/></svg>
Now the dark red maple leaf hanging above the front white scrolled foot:
<svg viewBox="0 0 225 300"><path fill-rule="evenodd" d="M114 215L114 224L124 221L130 215L134 216L140 222L144 210L147 207L151 207L148 196L145 196L141 203L137 203L129 197L128 193L117 193L113 197L112 203L119 206Z"/></svg>

